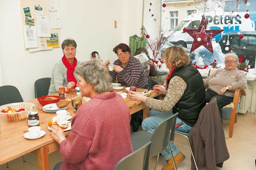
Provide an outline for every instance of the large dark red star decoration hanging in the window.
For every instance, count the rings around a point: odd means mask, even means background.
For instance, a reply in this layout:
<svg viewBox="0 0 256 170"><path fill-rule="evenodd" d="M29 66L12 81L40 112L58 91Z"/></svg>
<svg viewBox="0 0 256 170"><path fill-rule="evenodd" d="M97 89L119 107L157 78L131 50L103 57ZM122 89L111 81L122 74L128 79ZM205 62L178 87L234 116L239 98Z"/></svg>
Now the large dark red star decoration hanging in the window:
<svg viewBox="0 0 256 170"><path fill-rule="evenodd" d="M200 46L204 46L213 54L213 48L211 44L211 38L215 37L224 30L212 29L205 30L207 27L206 19L202 16L202 20L199 24L198 29L187 29L187 33L194 39L190 52L193 52ZM201 41L197 41L198 38L201 38Z"/></svg>

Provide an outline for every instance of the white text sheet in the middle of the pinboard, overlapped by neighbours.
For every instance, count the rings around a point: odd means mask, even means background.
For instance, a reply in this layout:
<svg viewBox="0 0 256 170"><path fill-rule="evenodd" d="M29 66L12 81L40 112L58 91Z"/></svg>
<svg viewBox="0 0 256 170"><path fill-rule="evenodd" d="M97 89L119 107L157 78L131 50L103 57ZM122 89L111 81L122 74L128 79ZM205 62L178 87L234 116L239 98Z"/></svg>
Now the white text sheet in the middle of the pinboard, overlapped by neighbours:
<svg viewBox="0 0 256 170"><path fill-rule="evenodd" d="M51 37L50 19L48 16L37 16L38 37Z"/></svg>

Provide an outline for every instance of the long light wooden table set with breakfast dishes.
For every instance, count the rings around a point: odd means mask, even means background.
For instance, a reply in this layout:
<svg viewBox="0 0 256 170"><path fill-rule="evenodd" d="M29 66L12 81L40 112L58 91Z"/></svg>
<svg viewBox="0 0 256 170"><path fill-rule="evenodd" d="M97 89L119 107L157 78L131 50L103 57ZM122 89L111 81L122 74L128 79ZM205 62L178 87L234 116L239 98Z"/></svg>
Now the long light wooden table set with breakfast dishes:
<svg viewBox="0 0 256 170"><path fill-rule="evenodd" d="M126 90L123 90L126 92ZM145 89L137 89L137 91L145 91ZM127 92L126 92L127 93ZM67 93L67 96L75 94L73 92ZM58 95L58 94L53 94ZM150 97L158 96L159 94L153 93ZM32 152L37 155L37 163L39 170L48 170L48 154L59 150L59 144L54 141L51 137L51 131L48 129L48 122L56 116L56 113L46 113L40 108L42 105L37 99L29 100L26 102L34 103L36 111L39 115L41 130L45 131L46 134L40 139L29 140L24 138L24 134L28 132L27 119L9 122L5 115L0 114L1 123L1 136L0 136L0 164L7 163L17 157L25 155L26 153ZM83 100L83 103L84 100ZM130 113L135 113L143 109L143 118L148 117L149 109L145 103L139 101L130 100L129 97L126 99L127 106ZM70 115L75 115L71 103L67 106L67 111ZM68 139L70 131L65 131L65 136Z"/></svg>

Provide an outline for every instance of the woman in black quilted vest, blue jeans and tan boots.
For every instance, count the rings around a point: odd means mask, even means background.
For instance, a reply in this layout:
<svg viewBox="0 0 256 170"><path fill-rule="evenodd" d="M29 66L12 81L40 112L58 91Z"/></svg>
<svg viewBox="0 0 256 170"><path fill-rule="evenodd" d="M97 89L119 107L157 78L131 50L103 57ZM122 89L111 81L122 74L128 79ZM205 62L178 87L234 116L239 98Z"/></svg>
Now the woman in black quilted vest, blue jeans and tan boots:
<svg viewBox="0 0 256 170"><path fill-rule="evenodd" d="M150 117L142 122L142 128L153 132L156 126L173 113L179 112L176 124L179 131L189 132L197 122L201 109L206 104L205 89L201 74L190 64L185 50L180 46L171 46L163 53L163 59L169 73L166 76L164 87L155 85L154 92L165 94L164 100L148 98L138 92L131 92L131 100L144 102L150 109ZM176 164L182 162L185 156L170 142ZM168 147L161 152L167 161L162 170L172 170L173 160Z"/></svg>

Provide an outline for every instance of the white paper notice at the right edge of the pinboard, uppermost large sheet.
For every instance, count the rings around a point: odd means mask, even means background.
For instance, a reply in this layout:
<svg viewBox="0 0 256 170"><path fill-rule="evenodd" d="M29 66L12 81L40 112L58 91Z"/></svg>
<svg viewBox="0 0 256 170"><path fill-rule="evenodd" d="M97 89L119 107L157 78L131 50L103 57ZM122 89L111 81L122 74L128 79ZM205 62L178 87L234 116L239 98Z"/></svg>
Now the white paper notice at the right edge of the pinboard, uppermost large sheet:
<svg viewBox="0 0 256 170"><path fill-rule="evenodd" d="M61 28L61 20L58 7L48 7L47 15L50 17L51 28Z"/></svg>

